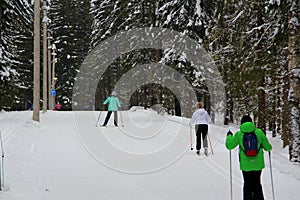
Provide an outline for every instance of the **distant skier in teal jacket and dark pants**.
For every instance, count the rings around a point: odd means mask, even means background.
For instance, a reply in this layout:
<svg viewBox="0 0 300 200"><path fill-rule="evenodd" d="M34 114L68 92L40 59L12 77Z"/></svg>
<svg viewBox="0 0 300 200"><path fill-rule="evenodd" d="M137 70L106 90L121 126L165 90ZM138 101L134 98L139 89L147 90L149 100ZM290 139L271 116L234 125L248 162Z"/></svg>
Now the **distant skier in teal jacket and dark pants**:
<svg viewBox="0 0 300 200"><path fill-rule="evenodd" d="M108 112L105 118L105 121L102 126L106 126L111 113L114 112L114 124L118 126L118 108L121 107L120 101L117 97L117 93L115 91L112 92L111 96L108 97L104 102L104 105L108 104Z"/></svg>

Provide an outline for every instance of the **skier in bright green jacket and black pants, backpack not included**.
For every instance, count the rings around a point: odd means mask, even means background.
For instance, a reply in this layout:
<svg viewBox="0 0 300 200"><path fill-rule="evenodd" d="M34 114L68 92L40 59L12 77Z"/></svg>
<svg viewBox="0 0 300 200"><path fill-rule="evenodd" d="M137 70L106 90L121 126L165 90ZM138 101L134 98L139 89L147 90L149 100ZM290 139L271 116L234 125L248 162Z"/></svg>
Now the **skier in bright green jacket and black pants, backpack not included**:
<svg viewBox="0 0 300 200"><path fill-rule="evenodd" d="M247 156L244 152L243 137L244 133L254 132L257 138L258 153L256 156ZM269 143L265 133L256 128L250 116L243 116L240 130L234 136L228 131L226 137L226 148L231 150L237 145L240 146L239 160L240 169L244 178L243 195L244 200L263 200L263 190L261 185L261 172L265 167L263 150L271 151L272 146Z"/></svg>

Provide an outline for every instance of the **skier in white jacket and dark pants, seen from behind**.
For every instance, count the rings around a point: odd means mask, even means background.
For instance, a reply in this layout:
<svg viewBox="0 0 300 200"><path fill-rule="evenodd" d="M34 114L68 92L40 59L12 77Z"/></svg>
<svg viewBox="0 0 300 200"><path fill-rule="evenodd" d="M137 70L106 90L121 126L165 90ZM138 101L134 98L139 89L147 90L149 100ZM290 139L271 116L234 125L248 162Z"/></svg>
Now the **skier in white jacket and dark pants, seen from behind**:
<svg viewBox="0 0 300 200"><path fill-rule="evenodd" d="M207 111L203 108L203 103L197 103L197 110L193 113L190 124L195 124L196 130L196 153L200 155L201 149L201 136L203 140L204 154L207 156L207 131L208 124L210 123L210 116Z"/></svg>

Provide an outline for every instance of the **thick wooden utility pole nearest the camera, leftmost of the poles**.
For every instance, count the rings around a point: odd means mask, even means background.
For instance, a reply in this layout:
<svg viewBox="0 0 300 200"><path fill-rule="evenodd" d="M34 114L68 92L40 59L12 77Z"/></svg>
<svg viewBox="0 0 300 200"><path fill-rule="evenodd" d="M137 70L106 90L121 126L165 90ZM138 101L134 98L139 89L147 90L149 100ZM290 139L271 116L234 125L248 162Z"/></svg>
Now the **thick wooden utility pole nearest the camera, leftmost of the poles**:
<svg viewBox="0 0 300 200"><path fill-rule="evenodd" d="M33 34L33 116L34 121L40 121L40 0L34 1L34 34Z"/></svg>

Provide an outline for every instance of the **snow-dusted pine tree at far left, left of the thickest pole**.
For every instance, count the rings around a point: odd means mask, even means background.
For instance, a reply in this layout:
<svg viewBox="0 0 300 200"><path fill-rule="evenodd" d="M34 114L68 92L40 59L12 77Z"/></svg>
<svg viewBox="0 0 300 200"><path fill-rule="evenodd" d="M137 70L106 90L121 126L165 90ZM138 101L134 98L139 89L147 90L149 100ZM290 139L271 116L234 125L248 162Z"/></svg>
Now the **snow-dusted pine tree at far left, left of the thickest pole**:
<svg viewBox="0 0 300 200"><path fill-rule="evenodd" d="M22 45L31 37L32 6L26 0L1 0L0 15L0 109L23 109L30 84L24 86L21 79L30 76L23 71L30 69L32 51Z"/></svg>

